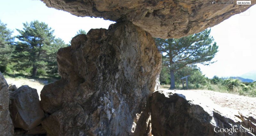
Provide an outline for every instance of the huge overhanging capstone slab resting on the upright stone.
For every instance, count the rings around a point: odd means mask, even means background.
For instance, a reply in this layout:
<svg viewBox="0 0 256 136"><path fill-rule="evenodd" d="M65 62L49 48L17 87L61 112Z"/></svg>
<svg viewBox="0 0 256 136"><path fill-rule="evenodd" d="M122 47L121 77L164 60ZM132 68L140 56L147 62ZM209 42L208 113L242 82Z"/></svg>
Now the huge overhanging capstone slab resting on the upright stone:
<svg viewBox="0 0 256 136"><path fill-rule="evenodd" d="M212 4L212 0L41 0L76 16L131 21L153 37L180 38L201 32L251 5ZM220 1L216 1L217 3ZM224 2L224 1L223 1ZM226 1L225 1L226 2ZM244 8L245 7L245 8Z"/></svg>

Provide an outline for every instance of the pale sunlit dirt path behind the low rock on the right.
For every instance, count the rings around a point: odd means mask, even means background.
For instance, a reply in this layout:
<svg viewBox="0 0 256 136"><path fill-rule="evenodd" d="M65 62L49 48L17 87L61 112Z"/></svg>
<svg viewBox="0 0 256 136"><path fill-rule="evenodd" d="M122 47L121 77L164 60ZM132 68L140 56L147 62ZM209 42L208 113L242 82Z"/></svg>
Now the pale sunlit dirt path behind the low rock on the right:
<svg viewBox="0 0 256 136"><path fill-rule="evenodd" d="M176 90L175 92L181 94L183 92L190 93L191 95L195 95L197 98L200 98L200 96L208 97L213 101L213 103L218 104L221 107L228 107L231 109L236 109L240 112L247 112L256 117L256 97L245 97L210 90Z"/></svg>

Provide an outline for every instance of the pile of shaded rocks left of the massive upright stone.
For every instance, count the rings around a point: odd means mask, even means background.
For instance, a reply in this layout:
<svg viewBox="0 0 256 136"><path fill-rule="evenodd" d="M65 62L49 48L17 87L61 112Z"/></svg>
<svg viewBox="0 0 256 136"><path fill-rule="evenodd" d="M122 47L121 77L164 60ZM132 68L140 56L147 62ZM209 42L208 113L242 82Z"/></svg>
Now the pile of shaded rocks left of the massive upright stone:
<svg viewBox="0 0 256 136"><path fill-rule="evenodd" d="M36 89L27 85L8 88L0 73L0 135L46 134L43 119Z"/></svg>

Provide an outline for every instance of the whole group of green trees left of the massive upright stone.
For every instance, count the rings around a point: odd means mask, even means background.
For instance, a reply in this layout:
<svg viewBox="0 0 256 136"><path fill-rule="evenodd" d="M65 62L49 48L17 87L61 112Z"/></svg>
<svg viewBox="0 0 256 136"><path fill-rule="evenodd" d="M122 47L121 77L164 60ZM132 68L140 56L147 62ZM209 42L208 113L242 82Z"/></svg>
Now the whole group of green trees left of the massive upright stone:
<svg viewBox="0 0 256 136"><path fill-rule="evenodd" d="M44 22L23 23L23 29L14 42L12 31L0 21L0 71L6 74L48 75L58 77L57 52L68 45L60 38L55 39L54 30ZM85 33L79 30L80 33Z"/></svg>

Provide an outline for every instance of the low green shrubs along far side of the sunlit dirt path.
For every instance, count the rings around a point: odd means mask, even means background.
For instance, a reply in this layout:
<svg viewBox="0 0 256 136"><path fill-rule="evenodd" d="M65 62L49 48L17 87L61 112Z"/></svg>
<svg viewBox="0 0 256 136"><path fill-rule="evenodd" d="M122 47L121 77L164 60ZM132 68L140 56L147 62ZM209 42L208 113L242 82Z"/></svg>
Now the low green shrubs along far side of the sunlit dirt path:
<svg viewBox="0 0 256 136"><path fill-rule="evenodd" d="M161 88L168 89L165 81L161 78L161 75L167 75L168 70L163 69L160 74L160 83ZM233 93L238 95L256 97L256 82L241 82L238 79L228 78L223 80L218 76L214 76L212 79L208 79L204 75L199 68L196 66L186 66L180 70L177 70L175 73L176 79L176 88L177 89L184 89L182 88L182 83L180 81L180 77L191 75L188 77L188 88L189 89L206 89L206 90L213 90L218 92L224 93ZM170 79L170 75L166 76ZM179 77L179 78L178 78ZM185 81L184 81L185 83Z"/></svg>

